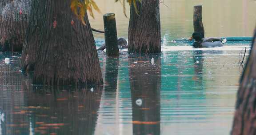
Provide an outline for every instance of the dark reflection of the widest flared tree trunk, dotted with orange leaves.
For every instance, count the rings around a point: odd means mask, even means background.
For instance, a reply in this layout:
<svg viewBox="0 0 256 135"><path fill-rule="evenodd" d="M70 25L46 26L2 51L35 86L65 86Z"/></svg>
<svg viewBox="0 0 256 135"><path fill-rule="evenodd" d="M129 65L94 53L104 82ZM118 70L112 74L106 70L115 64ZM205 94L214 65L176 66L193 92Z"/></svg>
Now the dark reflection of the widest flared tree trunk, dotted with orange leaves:
<svg viewBox="0 0 256 135"><path fill-rule="evenodd" d="M27 88L28 110L37 134L93 135L102 86Z"/></svg>

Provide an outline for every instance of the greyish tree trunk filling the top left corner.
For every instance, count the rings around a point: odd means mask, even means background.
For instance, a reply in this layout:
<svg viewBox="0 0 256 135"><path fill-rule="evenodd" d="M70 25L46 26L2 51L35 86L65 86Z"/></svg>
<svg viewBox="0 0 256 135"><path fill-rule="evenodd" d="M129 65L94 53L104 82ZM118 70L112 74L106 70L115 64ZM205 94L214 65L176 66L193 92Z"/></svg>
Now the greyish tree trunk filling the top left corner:
<svg viewBox="0 0 256 135"><path fill-rule="evenodd" d="M0 47L2 51L21 51L28 27L31 0L0 1Z"/></svg>

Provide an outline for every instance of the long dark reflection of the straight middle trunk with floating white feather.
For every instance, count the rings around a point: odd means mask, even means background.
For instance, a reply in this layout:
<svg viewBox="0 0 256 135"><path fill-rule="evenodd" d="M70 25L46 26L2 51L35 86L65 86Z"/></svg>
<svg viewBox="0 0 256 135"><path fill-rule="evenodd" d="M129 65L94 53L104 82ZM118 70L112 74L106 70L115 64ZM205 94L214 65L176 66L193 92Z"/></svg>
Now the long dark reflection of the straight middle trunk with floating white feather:
<svg viewBox="0 0 256 135"><path fill-rule="evenodd" d="M134 135L160 135L160 75L160 56L129 58Z"/></svg>

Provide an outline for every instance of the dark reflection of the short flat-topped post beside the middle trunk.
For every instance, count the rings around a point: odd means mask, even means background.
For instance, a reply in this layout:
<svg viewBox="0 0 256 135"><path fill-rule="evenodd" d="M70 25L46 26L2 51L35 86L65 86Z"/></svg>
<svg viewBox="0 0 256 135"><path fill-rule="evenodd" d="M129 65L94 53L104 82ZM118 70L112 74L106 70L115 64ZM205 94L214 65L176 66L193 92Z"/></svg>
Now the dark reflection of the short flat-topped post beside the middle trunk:
<svg viewBox="0 0 256 135"><path fill-rule="evenodd" d="M105 68L105 91L116 91L119 58L107 57Z"/></svg>

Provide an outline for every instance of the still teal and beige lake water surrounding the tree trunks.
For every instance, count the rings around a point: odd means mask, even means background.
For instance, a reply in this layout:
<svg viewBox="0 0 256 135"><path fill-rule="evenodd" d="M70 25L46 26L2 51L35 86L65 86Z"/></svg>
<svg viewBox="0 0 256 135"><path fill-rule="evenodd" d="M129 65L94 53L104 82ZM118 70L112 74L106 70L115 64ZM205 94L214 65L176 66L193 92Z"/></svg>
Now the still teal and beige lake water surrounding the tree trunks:
<svg viewBox="0 0 256 135"><path fill-rule="evenodd" d="M116 12L118 35L127 38L120 4L100 1L102 13ZM203 5L206 36L252 36L256 3L164 3L169 8L161 4L162 53L138 57L124 49L117 59L99 52L104 86L34 86L31 75L19 71L21 54L0 52L0 135L228 135L242 71L239 52L250 42L192 49L172 40L192 34L196 4ZM90 19L92 27L103 29L101 17ZM94 36L99 47L104 36Z"/></svg>

